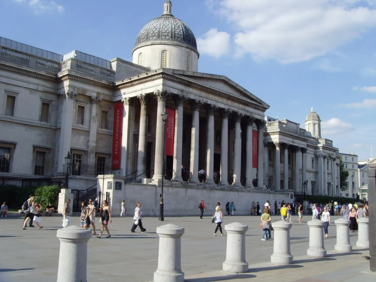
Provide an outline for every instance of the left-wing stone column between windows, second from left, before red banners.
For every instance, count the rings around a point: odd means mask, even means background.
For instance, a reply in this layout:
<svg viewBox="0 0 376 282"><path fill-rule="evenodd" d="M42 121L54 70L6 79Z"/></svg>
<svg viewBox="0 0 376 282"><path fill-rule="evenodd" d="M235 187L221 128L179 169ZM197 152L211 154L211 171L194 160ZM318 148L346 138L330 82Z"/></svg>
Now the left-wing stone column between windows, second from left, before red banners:
<svg viewBox="0 0 376 282"><path fill-rule="evenodd" d="M89 139L88 139L88 158L86 163L93 167L93 172L95 169L95 146L97 143L97 128L98 128L98 119L99 119L99 102L102 101L99 97L91 97L92 112L90 118L90 130L89 130Z"/></svg>

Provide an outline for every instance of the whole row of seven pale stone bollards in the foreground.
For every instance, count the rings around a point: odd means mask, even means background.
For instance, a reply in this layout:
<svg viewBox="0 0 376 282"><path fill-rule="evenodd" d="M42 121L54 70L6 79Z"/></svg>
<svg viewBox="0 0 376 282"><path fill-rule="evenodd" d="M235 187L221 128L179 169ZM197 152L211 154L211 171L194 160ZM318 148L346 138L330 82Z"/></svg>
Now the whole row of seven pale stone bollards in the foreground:
<svg viewBox="0 0 376 282"><path fill-rule="evenodd" d="M368 218L358 220L358 247L369 248ZM308 221L309 248L307 256L314 258L326 257L324 248L323 228L321 220ZM337 251L352 251L350 244L350 220L335 220L337 227ZM290 251L291 223L276 221L274 229L274 249L271 262L278 265L292 264L293 256ZM245 233L248 226L239 222L225 225L227 232L226 260L223 271L233 273L248 272L245 258ZM181 238L184 228L175 224L166 224L157 228L159 235L158 269L154 272L154 282L184 282L184 272L181 267ZM88 256L88 241L91 231L71 226L57 231L60 240L59 270L57 282L86 282Z"/></svg>

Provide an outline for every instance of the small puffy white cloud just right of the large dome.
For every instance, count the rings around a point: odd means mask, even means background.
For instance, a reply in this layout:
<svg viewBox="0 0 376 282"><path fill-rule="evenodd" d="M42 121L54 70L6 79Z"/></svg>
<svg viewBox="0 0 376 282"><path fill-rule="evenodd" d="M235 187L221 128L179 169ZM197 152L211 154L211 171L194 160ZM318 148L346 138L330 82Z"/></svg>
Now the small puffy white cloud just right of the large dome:
<svg viewBox="0 0 376 282"><path fill-rule="evenodd" d="M219 58L230 50L230 35L211 29L203 37L197 39L198 51Z"/></svg>

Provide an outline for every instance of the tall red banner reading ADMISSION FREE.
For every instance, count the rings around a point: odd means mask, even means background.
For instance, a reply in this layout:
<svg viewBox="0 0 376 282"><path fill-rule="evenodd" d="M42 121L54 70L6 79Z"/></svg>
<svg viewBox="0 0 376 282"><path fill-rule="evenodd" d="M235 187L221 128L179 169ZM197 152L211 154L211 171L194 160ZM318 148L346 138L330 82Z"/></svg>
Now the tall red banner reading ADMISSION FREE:
<svg viewBox="0 0 376 282"><path fill-rule="evenodd" d="M120 170L122 158L123 102L115 103L113 109L112 170Z"/></svg>

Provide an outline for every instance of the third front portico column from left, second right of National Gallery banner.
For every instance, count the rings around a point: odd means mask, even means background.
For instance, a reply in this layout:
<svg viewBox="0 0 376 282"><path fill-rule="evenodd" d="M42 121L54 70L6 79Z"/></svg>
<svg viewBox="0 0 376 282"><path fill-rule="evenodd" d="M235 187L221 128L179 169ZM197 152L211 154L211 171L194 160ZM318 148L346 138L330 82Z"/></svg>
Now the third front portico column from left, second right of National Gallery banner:
<svg viewBox="0 0 376 282"><path fill-rule="evenodd" d="M192 131L191 131L191 162L190 162L190 182L198 181L198 142L199 142L199 109L203 105L202 101L192 101Z"/></svg>

